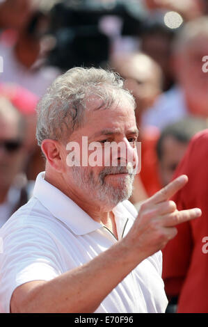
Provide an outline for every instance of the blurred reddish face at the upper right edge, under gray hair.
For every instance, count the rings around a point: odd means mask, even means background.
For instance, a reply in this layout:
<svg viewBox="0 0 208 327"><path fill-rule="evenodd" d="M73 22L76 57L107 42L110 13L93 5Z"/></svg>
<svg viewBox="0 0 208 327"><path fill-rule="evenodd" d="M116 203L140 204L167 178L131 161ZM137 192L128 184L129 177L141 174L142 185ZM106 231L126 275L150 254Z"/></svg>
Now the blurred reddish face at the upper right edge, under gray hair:
<svg viewBox="0 0 208 327"><path fill-rule="evenodd" d="M175 55L175 75L184 90L193 114L208 116L208 72L203 72L203 56L208 55L208 36L201 35Z"/></svg>

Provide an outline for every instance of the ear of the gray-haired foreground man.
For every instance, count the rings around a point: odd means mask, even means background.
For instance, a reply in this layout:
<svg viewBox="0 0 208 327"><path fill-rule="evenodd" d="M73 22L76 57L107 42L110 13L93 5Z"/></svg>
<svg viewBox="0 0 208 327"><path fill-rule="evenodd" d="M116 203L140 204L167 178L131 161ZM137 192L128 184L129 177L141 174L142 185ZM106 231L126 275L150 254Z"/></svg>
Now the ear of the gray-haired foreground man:
<svg viewBox="0 0 208 327"><path fill-rule="evenodd" d="M51 167L61 173L63 171L63 160L61 158L60 143L56 140L45 139L42 141L41 149Z"/></svg>

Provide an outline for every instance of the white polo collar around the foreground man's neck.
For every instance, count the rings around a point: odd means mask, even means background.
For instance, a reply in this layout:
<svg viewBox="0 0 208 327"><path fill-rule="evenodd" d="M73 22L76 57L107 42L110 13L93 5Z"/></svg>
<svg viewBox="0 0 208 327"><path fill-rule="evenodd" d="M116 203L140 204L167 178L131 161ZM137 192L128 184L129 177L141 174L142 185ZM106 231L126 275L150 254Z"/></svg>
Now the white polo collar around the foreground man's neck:
<svg viewBox="0 0 208 327"><path fill-rule="evenodd" d="M102 228L102 224L97 223L72 199L45 180L45 172L39 173L33 189L33 196L51 212L51 214L65 223L74 234L84 235ZM129 218L129 211L122 203L113 209L115 223L119 234Z"/></svg>

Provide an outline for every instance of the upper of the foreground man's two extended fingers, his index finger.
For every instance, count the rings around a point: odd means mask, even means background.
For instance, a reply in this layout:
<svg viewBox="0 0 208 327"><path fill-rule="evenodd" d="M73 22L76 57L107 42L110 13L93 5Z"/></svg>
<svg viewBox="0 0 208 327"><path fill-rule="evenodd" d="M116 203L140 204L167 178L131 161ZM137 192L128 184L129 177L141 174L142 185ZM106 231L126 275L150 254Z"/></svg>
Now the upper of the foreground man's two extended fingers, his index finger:
<svg viewBox="0 0 208 327"><path fill-rule="evenodd" d="M170 182L168 185L163 187L160 191L151 196L147 201L148 203L157 204L163 202L174 196L174 194L182 189L188 182L188 177L186 175L181 175L177 177L173 182Z"/></svg>

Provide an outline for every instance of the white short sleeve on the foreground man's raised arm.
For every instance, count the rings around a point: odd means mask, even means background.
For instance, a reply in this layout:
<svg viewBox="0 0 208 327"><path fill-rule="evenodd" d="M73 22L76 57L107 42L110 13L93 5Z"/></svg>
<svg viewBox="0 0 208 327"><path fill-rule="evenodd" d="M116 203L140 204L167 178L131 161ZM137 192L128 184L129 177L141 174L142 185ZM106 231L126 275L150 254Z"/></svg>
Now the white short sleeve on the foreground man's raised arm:
<svg viewBox="0 0 208 327"><path fill-rule="evenodd" d="M18 286L33 280L51 280L62 271L56 243L47 231L26 227L23 233L19 228L2 239L0 310L8 313L10 298Z"/></svg>

